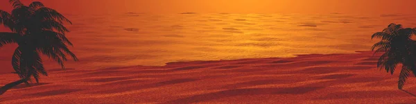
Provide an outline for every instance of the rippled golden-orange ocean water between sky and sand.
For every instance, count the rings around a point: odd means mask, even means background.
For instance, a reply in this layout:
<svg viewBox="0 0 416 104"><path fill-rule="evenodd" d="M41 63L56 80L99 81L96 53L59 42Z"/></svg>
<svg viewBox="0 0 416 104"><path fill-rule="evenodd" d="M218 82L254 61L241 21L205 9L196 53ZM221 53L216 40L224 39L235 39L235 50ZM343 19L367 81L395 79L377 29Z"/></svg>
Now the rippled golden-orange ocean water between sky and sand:
<svg viewBox="0 0 416 104"><path fill-rule="evenodd" d="M140 14L66 15L67 37L79 62L102 69L192 60L295 57L370 51L372 33L390 23L416 27L416 15ZM12 71L15 45L0 49L2 72ZM58 65L45 60L49 69Z"/></svg>

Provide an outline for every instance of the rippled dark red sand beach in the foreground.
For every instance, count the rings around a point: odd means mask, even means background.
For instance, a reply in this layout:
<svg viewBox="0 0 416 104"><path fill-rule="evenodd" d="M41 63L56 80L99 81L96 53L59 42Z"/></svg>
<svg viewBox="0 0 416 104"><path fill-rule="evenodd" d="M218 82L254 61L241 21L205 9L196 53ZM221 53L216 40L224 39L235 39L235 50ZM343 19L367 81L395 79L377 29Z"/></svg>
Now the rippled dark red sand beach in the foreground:
<svg viewBox="0 0 416 104"><path fill-rule="evenodd" d="M173 62L163 67L49 70L0 103L416 103L378 55L311 54L295 58ZM0 85L17 80L3 74ZM416 80L404 89L416 93Z"/></svg>

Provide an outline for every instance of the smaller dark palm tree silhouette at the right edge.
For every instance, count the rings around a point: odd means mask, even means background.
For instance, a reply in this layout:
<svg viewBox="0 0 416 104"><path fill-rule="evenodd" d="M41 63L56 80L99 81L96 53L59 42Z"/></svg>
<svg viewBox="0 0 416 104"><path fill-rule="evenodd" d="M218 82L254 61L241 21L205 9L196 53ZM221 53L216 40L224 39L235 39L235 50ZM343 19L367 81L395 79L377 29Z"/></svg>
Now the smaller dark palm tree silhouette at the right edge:
<svg viewBox="0 0 416 104"><path fill-rule="evenodd" d="M374 37L381 38L372 46L374 53L384 52L377 62L379 69L385 69L391 74L395 72L398 64L401 64L401 72L399 75L399 89L402 89L406 79L410 75L410 71L416 76L416 47L415 41L411 40L412 35L415 35L416 28L403 28L401 24L390 24L381 32L374 33Z"/></svg>

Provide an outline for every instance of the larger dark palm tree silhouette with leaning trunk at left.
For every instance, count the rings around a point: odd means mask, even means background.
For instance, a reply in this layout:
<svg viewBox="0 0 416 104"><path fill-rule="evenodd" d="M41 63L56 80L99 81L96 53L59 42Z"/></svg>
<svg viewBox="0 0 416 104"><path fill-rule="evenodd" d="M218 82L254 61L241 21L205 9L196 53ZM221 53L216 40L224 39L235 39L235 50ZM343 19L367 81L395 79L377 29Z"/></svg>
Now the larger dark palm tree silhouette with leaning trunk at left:
<svg viewBox="0 0 416 104"><path fill-rule="evenodd" d="M0 10L0 25L10 28L12 33L0 33L0 47L5 44L18 44L12 55L12 67L21 80L9 83L0 88L0 94L21 83L31 81L31 76L39 83L40 73L48 76L42 64L41 54L52 58L64 69L67 55L77 61L76 55L69 51L71 42L65 37L69 32L63 26L69 22L56 10L45 7L34 1L24 6L19 0L10 0L13 10L10 13ZM67 54L67 55L66 55Z"/></svg>

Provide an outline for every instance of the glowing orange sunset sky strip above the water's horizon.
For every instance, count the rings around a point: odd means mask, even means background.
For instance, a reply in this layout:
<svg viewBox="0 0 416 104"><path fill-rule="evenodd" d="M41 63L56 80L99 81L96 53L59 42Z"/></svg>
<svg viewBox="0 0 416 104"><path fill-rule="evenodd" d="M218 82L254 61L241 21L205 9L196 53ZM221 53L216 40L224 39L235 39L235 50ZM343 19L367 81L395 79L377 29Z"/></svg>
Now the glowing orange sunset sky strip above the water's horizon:
<svg viewBox="0 0 416 104"><path fill-rule="evenodd" d="M35 1L35 0L21 0ZM148 13L413 13L415 0L39 0L69 14ZM1 10L10 10L8 0Z"/></svg>

